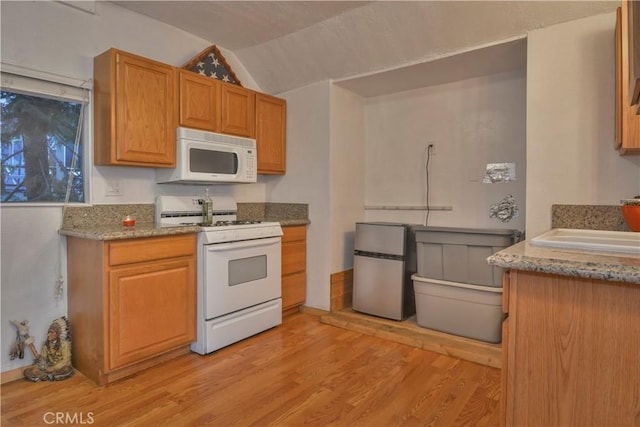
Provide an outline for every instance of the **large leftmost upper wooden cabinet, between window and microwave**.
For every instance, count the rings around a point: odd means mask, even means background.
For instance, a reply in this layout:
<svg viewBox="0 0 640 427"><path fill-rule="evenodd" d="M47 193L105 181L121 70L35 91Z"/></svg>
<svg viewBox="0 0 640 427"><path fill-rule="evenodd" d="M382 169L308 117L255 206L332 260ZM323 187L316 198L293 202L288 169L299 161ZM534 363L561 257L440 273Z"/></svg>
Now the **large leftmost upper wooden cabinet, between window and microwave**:
<svg viewBox="0 0 640 427"><path fill-rule="evenodd" d="M116 49L93 67L95 164L175 167L175 68Z"/></svg>

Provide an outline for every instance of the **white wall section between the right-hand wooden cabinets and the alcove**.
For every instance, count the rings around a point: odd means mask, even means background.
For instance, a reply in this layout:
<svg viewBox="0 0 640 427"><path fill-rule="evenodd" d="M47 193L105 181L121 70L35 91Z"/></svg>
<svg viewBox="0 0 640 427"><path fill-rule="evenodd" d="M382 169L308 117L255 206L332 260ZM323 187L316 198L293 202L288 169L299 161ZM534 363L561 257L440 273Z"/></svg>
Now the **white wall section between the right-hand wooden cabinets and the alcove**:
<svg viewBox="0 0 640 427"><path fill-rule="evenodd" d="M267 178L267 200L308 203L306 305L328 310L331 275L329 83L281 93L287 100L287 174Z"/></svg>

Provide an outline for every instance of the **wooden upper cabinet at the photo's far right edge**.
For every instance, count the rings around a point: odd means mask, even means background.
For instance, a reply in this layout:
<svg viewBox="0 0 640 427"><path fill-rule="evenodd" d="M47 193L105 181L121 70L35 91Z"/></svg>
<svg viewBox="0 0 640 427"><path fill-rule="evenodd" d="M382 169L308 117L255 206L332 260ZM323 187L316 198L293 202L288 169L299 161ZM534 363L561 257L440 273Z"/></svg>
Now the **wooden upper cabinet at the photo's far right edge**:
<svg viewBox="0 0 640 427"><path fill-rule="evenodd" d="M640 153L640 116L629 105L628 3L623 2L616 17L616 148L621 154Z"/></svg>

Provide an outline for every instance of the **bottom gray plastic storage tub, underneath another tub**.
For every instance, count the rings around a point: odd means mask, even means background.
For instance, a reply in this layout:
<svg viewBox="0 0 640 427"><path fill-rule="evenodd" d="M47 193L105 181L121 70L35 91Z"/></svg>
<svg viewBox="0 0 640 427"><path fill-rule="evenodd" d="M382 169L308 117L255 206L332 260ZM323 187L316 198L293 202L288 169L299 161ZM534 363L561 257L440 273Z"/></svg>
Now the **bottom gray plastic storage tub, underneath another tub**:
<svg viewBox="0 0 640 427"><path fill-rule="evenodd" d="M490 343L502 341L502 288L413 279L419 326Z"/></svg>

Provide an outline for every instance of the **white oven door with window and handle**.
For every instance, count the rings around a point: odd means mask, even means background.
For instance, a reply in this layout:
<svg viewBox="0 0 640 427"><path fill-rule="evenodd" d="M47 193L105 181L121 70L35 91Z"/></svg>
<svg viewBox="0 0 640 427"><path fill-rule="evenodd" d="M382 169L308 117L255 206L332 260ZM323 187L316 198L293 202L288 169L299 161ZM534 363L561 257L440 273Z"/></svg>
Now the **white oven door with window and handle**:
<svg viewBox="0 0 640 427"><path fill-rule="evenodd" d="M281 238L204 246L205 319L280 298Z"/></svg>

